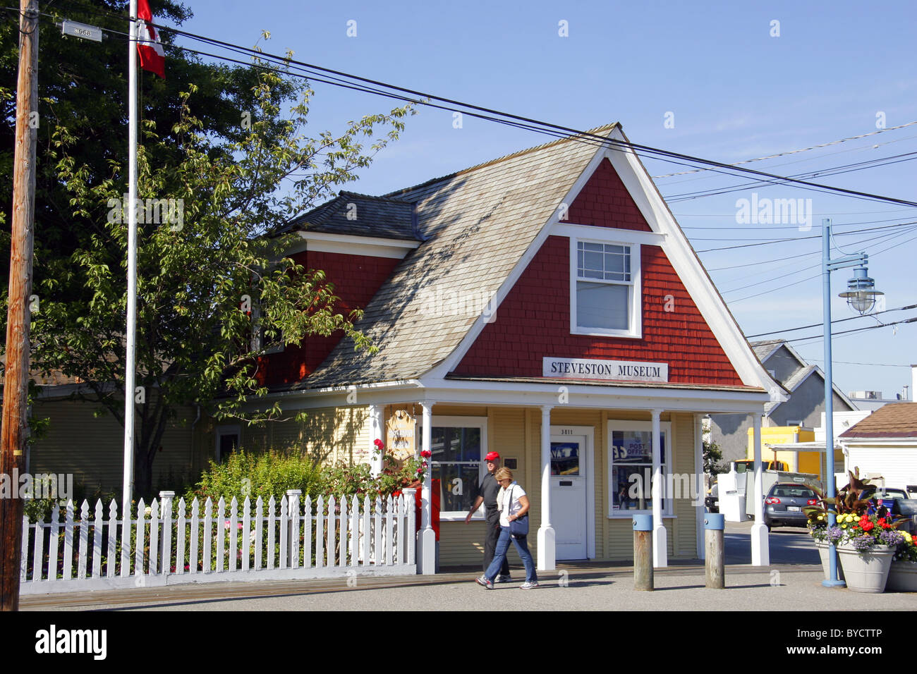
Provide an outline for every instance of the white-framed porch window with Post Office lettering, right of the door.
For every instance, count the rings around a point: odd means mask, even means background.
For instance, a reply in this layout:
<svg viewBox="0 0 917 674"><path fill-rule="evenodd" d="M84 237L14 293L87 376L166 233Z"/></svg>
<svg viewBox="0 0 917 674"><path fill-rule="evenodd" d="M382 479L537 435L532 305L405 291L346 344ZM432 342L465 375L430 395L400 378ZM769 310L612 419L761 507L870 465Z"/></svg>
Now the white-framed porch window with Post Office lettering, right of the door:
<svg viewBox="0 0 917 674"><path fill-rule="evenodd" d="M671 423L659 423L659 461L662 464L662 513L672 514L672 500L666 493L666 475L671 470ZM609 517L652 514L653 425L648 421L608 422Z"/></svg>

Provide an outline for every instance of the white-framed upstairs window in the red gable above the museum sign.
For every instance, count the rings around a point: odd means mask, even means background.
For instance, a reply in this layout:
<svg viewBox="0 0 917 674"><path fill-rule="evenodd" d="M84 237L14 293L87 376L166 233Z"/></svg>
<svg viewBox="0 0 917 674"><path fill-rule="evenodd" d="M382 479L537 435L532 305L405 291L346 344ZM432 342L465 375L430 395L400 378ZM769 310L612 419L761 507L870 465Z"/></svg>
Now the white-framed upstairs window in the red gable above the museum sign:
<svg viewBox="0 0 917 674"><path fill-rule="evenodd" d="M570 237L570 332L641 337L640 244Z"/></svg>

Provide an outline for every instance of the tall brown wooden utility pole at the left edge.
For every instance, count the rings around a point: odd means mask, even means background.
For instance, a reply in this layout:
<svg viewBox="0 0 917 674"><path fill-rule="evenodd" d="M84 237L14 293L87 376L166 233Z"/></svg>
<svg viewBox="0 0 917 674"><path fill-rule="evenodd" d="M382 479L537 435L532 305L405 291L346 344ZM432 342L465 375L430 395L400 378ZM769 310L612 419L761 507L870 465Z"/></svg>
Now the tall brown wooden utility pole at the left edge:
<svg viewBox="0 0 917 674"><path fill-rule="evenodd" d="M0 474L12 498L0 498L0 610L19 608L22 500L12 478L23 466L28 436L28 324L35 223L35 154L39 138L39 3L19 0L19 77L16 88L16 154L6 313L6 371Z"/></svg>

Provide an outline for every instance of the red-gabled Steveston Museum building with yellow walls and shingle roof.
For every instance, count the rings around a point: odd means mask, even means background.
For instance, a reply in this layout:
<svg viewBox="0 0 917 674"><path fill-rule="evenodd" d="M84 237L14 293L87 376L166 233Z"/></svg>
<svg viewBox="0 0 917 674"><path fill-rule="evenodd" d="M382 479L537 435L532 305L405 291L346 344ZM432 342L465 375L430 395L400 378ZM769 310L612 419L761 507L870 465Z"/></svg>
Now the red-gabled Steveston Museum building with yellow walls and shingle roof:
<svg viewBox="0 0 917 674"><path fill-rule="evenodd" d="M293 257L326 271L343 309L365 309L358 326L379 350L314 337L272 354L269 399L309 422L220 426L217 444L238 433L354 461L372 460L376 439L430 447L445 566L481 562L483 518L464 519L492 450L533 503L539 569L631 558L640 513L657 566L701 557L702 416L760 427L779 385L621 127L591 134L381 197L341 193L294 220Z"/></svg>

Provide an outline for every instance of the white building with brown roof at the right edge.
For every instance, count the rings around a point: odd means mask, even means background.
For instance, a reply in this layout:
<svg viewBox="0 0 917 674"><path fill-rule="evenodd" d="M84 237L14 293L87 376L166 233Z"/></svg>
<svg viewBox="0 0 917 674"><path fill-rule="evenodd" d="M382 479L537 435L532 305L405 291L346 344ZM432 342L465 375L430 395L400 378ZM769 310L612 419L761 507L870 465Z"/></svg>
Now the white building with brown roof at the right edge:
<svg viewBox="0 0 917 674"><path fill-rule="evenodd" d="M917 403L880 407L838 439L848 470L878 473L887 487L917 492Z"/></svg>

